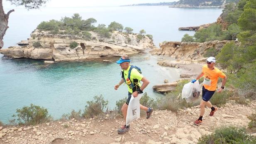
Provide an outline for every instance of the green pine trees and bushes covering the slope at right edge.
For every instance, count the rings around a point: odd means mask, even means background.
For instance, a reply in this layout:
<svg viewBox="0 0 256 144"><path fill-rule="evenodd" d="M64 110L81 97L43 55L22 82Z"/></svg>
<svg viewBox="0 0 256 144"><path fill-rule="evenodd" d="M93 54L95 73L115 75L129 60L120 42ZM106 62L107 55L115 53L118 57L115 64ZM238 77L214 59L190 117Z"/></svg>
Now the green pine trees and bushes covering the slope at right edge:
<svg viewBox="0 0 256 144"><path fill-rule="evenodd" d="M254 99L251 92L256 90L256 2L240 0L238 3L230 3L226 5L222 18L228 24L227 29L223 29L220 24L212 24L197 31L193 40L233 40L220 51L214 47L209 49L209 53L216 56L221 68L227 69L227 85L234 87L239 97ZM234 41L236 38L239 45ZM191 41L191 36L184 35L183 40Z"/></svg>

